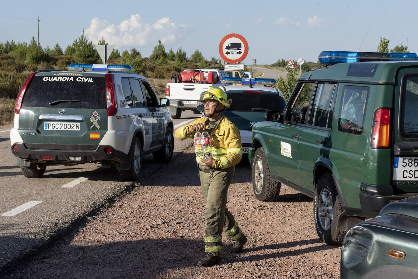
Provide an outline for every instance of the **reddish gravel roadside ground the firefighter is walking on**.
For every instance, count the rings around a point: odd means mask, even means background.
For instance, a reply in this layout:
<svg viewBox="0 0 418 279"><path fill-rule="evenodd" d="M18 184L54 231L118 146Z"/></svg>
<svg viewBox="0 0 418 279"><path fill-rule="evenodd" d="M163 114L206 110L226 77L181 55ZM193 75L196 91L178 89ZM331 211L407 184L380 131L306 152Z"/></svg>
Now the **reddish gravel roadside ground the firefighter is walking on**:
<svg viewBox="0 0 418 279"><path fill-rule="evenodd" d="M205 205L189 149L68 237L0 277L339 278L341 247L319 240L312 199L282 185L278 201L260 202L250 170L245 157L227 205L248 242L242 253L232 254L224 237L217 266L196 266L204 256Z"/></svg>

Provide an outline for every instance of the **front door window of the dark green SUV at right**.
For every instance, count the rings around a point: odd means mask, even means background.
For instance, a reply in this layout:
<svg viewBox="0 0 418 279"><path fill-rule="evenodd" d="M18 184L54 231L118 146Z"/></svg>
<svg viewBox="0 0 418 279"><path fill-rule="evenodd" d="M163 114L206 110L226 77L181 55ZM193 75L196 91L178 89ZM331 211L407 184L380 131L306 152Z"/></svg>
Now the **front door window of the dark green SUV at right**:
<svg viewBox="0 0 418 279"><path fill-rule="evenodd" d="M291 100L291 113L288 115L287 121L295 123L305 123L305 114L308 111L309 99L314 89L314 82L303 82L298 87L298 95L296 99Z"/></svg>

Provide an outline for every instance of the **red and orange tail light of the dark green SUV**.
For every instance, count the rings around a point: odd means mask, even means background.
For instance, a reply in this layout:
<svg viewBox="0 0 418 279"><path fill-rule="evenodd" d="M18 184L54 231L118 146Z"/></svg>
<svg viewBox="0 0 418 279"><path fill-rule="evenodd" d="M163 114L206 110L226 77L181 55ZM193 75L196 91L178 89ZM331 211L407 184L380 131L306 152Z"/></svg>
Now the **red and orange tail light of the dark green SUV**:
<svg viewBox="0 0 418 279"><path fill-rule="evenodd" d="M375 113L372 148L389 147L390 143L390 109L381 108Z"/></svg>

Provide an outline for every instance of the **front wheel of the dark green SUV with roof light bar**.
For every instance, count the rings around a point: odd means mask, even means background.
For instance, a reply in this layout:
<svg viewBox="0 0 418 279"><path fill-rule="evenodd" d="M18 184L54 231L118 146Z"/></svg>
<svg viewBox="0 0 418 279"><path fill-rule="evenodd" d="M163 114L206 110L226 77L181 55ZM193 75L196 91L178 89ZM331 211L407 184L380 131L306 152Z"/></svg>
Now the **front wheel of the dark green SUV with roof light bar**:
<svg viewBox="0 0 418 279"><path fill-rule="evenodd" d="M263 148L257 148L252 160L252 189L257 200L273 202L280 195L280 182L270 177L270 168Z"/></svg>

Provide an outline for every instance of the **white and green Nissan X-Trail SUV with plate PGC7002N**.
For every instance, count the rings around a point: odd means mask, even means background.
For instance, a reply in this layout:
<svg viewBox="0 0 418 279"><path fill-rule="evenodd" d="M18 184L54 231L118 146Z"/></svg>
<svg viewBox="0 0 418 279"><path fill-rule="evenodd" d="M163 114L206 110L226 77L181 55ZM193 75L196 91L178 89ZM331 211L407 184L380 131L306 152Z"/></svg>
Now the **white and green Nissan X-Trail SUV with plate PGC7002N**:
<svg viewBox="0 0 418 279"><path fill-rule="evenodd" d="M53 164L92 162L136 180L144 155L171 160L169 100L158 100L145 77L129 65L68 69L33 72L18 93L10 142L25 177L42 177Z"/></svg>

